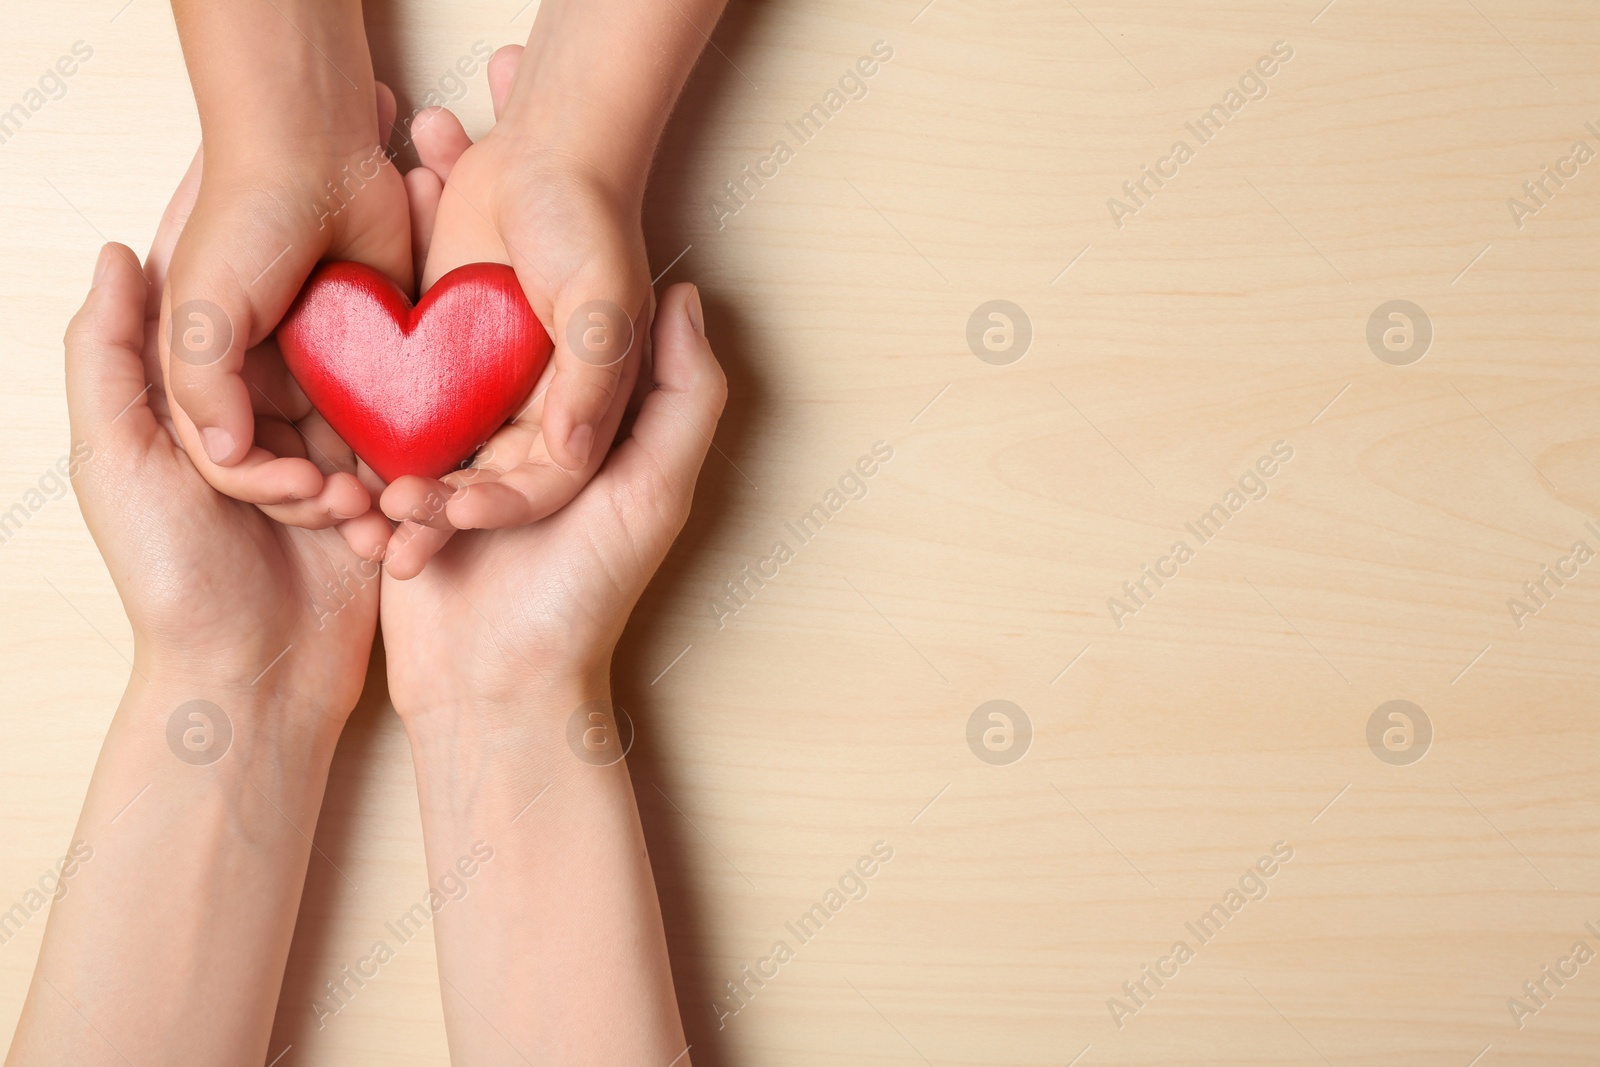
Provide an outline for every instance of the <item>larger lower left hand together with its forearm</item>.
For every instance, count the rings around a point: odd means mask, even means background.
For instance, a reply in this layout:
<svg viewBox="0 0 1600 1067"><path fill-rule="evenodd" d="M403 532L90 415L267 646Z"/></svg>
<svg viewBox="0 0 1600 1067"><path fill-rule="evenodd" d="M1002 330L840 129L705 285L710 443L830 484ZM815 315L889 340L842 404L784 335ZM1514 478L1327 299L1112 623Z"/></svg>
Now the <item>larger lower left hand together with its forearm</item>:
<svg viewBox="0 0 1600 1067"><path fill-rule="evenodd" d="M366 673L378 565L213 490L173 426L155 325L198 184L197 158L144 272L123 245L101 251L67 330L69 467L134 657L54 867L13 1067L275 1059L328 766ZM245 381L293 408L269 357L246 355ZM376 552L389 526L370 518Z"/></svg>

